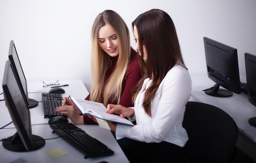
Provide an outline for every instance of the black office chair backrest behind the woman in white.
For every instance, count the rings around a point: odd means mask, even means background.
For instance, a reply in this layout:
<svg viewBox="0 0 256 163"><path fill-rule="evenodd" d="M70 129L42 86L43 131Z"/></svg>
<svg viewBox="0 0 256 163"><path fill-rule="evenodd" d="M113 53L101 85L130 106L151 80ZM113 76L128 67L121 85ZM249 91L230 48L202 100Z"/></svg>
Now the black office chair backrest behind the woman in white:
<svg viewBox="0 0 256 163"><path fill-rule="evenodd" d="M190 163L228 163L236 154L238 127L216 106L188 102L183 127L189 140L184 146Z"/></svg>

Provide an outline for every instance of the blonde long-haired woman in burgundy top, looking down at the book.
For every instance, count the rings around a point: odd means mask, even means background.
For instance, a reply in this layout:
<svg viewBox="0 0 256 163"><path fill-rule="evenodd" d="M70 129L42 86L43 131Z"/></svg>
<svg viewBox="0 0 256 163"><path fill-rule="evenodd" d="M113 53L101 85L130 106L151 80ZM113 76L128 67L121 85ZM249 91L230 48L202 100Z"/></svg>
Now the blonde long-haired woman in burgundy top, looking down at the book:
<svg viewBox="0 0 256 163"><path fill-rule="evenodd" d="M100 13L92 25L92 86L85 100L131 107L132 89L140 77L137 52L130 46L130 33L121 16L112 10ZM66 114L75 124L97 124L64 97L66 105L56 111Z"/></svg>

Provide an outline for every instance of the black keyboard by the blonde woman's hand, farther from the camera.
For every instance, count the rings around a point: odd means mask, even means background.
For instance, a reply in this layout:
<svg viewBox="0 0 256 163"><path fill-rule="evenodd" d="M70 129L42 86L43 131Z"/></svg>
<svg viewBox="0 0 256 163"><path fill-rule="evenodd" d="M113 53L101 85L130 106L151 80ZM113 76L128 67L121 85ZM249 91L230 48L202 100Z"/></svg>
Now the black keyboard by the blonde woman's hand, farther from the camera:
<svg viewBox="0 0 256 163"><path fill-rule="evenodd" d="M61 106L62 104L62 95L57 93L42 93L42 102L43 109L45 113L45 118L52 118L56 116L64 116L65 114L61 114L60 112L55 111L55 108Z"/></svg>

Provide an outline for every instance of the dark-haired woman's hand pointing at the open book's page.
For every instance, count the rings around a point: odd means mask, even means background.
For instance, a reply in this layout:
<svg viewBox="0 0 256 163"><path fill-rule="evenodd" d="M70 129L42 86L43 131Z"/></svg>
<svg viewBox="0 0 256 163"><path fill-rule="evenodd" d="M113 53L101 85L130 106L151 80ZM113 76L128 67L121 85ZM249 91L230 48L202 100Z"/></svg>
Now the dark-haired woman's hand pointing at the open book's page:
<svg viewBox="0 0 256 163"><path fill-rule="evenodd" d="M132 108L127 108L122 105L108 104L107 113L115 113L120 115L120 117L130 117L134 115L134 110Z"/></svg>

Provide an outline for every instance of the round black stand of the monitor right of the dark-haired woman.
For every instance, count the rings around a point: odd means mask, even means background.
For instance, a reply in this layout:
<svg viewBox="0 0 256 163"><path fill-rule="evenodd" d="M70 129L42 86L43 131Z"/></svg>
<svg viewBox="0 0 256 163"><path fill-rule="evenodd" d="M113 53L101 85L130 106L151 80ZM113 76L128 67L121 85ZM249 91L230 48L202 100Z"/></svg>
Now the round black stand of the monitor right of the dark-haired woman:
<svg viewBox="0 0 256 163"><path fill-rule="evenodd" d="M209 89L204 89L203 91L207 95L214 97L230 97L233 95L231 91L228 91L227 89L221 89L219 83L216 83L216 85L214 85L213 87Z"/></svg>

